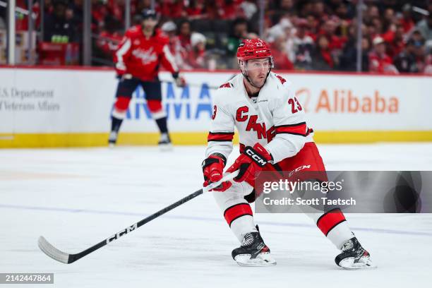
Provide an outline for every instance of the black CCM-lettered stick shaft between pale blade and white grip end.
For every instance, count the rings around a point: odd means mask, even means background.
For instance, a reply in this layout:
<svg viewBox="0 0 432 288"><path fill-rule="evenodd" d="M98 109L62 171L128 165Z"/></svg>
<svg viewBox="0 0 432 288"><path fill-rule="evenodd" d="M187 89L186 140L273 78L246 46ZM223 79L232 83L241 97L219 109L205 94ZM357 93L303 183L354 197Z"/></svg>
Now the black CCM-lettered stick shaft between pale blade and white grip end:
<svg viewBox="0 0 432 288"><path fill-rule="evenodd" d="M198 191L193 192L191 195L188 195L184 198L181 198L176 203L172 203L171 205L163 208L162 210L159 210L152 215L144 218L143 220L140 220L139 222L136 222L135 224L132 224L130 227L126 227L126 229L121 230L117 234L114 234L107 239L100 241L98 244L91 246L88 249L85 249L84 251L77 253L77 254L71 254L68 258L68 263L73 263L76 260L83 258L84 256L87 256L88 254L92 253L93 251L96 251L99 248L102 248L103 246L111 243L112 241L119 239L121 236L128 234L128 232L132 232L135 229L138 229L139 227L143 226L144 224L154 220L155 218L159 217L160 215L164 215L166 212L173 210L174 208L188 202L189 200L192 200L193 198L196 198L197 196L200 196L203 194L203 189L200 189Z"/></svg>

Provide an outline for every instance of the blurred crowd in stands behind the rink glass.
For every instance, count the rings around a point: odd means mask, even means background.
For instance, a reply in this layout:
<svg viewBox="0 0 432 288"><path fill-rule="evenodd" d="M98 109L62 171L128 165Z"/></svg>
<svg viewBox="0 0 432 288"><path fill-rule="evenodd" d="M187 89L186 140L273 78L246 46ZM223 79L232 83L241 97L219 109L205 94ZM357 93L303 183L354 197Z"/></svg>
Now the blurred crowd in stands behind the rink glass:
<svg viewBox="0 0 432 288"><path fill-rule="evenodd" d="M258 37L260 2L156 0L155 10L181 68L236 68L239 42ZM263 2L263 38L272 47L276 69L356 71L356 0ZM17 0L20 7L26 3ZM44 3L44 41L54 35L82 41L83 0ZM124 34L124 3L92 0L93 54L106 59L100 64L109 62ZM151 0L131 0L131 25L140 23L140 11L150 6ZM38 9L35 3L32 10L40 14ZM364 0L362 11L362 71L432 73L432 1ZM25 19L21 22L17 25L25 29Z"/></svg>

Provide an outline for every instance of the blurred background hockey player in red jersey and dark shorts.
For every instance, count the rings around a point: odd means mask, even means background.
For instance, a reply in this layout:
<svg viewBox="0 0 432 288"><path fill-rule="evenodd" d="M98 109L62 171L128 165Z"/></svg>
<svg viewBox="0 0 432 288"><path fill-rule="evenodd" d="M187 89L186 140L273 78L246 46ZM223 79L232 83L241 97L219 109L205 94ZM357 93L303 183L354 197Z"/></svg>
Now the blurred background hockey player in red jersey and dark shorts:
<svg viewBox="0 0 432 288"><path fill-rule="evenodd" d="M112 112L108 142L110 145L116 143L132 93L138 85L141 85L145 92L148 109L161 133L159 145L169 147L171 140L167 128L167 114L162 108L161 84L157 76L160 64L172 73L176 85L183 87L186 82L179 76L179 69L169 52L168 39L162 35L160 30L155 29L157 25L155 11L145 9L142 14L142 25L136 25L127 30L114 53L119 85L116 91L116 103Z"/></svg>

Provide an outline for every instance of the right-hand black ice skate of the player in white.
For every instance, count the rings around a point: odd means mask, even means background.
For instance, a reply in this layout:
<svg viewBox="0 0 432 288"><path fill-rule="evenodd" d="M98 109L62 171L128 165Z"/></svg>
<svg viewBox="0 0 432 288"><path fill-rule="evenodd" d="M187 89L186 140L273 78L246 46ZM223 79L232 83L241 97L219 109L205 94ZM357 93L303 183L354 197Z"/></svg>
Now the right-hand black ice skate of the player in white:
<svg viewBox="0 0 432 288"><path fill-rule="evenodd" d="M361 247L356 237L346 241L341 250L342 253L335 258L338 266L347 270L376 268L371 261L371 255Z"/></svg>

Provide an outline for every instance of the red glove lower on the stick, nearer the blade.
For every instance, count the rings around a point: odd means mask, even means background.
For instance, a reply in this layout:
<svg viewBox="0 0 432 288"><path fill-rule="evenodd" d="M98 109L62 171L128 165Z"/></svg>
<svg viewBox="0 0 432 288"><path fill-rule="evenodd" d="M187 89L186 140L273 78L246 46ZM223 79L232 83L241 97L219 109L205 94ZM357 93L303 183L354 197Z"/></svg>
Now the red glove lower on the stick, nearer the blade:
<svg viewBox="0 0 432 288"><path fill-rule="evenodd" d="M225 160L224 155L219 153L212 154L206 160L203 161L203 164L201 166L203 167L204 187L208 186L211 183L220 181L220 179L222 179L226 162L227 160ZM214 188L211 191L223 192L231 186L232 183L227 181L220 184L220 186L217 186L217 188Z"/></svg>

